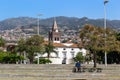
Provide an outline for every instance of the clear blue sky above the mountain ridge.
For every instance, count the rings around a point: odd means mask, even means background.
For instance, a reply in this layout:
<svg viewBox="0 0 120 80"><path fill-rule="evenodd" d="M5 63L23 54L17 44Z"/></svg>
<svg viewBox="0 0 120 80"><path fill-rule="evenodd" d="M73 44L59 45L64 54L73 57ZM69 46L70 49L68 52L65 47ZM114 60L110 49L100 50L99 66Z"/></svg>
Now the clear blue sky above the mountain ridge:
<svg viewBox="0 0 120 80"><path fill-rule="evenodd" d="M56 16L104 18L104 0L0 0L0 21L8 18ZM41 16L38 16L42 14ZM120 20L120 0L109 0L106 17Z"/></svg>

